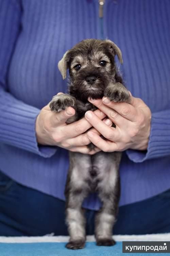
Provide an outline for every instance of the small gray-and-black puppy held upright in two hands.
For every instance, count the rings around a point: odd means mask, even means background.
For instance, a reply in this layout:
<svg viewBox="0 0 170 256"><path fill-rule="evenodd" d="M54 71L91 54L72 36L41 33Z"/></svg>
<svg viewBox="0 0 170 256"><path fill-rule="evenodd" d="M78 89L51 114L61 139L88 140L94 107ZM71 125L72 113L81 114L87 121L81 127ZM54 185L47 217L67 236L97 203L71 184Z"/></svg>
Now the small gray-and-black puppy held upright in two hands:
<svg viewBox="0 0 170 256"><path fill-rule="evenodd" d="M108 97L114 102L128 102L129 92L122 84L115 65L115 55L123 62L120 49L110 40L87 39L67 51L58 62L58 68L66 78L70 73L69 94L53 97L52 111L75 109L75 115L67 124L82 118L87 110L96 107L88 97ZM89 151L93 147L92 143ZM85 245L85 217L82 202L89 193L98 192L102 202L95 218L97 245L111 246L113 225L118 212L120 196L119 163L120 152L98 152L95 155L70 152L70 167L65 188L66 221L70 240L66 247L80 249Z"/></svg>

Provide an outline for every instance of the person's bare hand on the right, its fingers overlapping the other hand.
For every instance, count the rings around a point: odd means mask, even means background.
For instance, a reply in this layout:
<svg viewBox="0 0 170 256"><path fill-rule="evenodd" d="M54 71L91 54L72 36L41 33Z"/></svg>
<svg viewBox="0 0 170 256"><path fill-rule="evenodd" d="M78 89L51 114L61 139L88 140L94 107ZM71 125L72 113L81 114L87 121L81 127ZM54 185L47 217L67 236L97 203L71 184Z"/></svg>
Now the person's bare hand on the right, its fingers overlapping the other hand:
<svg viewBox="0 0 170 256"><path fill-rule="evenodd" d="M149 107L140 98L132 95L130 103L109 100L106 103L105 99L108 98L88 100L105 113L116 128L108 127L94 112L87 111L86 120L106 138L103 140L98 134L88 131L89 140L104 152L124 151L128 148L147 150L151 128Z"/></svg>

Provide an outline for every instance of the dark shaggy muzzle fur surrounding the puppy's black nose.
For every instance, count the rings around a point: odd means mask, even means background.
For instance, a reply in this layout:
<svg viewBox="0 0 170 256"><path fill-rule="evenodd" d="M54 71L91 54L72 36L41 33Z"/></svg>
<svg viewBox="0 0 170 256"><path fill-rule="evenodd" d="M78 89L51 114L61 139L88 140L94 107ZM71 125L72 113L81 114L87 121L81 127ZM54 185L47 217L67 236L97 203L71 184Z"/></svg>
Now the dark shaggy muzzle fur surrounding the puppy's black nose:
<svg viewBox="0 0 170 256"><path fill-rule="evenodd" d="M89 97L92 99L101 99L104 95L104 89L110 81L109 77L104 74L104 72L102 74L99 72L90 74L84 73L85 72L81 72L71 81L69 88L70 95L83 102L87 102ZM86 81L86 77L88 76L96 76L97 79L93 84L89 84Z"/></svg>

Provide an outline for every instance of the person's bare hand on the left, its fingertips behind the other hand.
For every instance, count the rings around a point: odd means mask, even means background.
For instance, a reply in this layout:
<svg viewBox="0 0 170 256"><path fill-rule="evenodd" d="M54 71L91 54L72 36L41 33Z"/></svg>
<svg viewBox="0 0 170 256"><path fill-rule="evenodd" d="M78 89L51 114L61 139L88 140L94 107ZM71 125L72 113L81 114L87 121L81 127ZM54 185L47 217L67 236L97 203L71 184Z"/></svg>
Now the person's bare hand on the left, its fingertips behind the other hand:
<svg viewBox="0 0 170 256"><path fill-rule="evenodd" d="M51 111L49 105L50 103L41 109L36 119L35 129L39 144L59 146L73 152L90 155L100 151L97 147L92 151L87 148L90 140L86 131L91 128L91 125L85 118L66 124L67 119L75 114L75 110L68 107L66 110L55 113ZM99 109L95 110L94 113L101 120L105 117L105 114ZM112 122L109 119L105 118L103 122L108 126L112 126ZM91 130L100 135L95 128L91 128Z"/></svg>

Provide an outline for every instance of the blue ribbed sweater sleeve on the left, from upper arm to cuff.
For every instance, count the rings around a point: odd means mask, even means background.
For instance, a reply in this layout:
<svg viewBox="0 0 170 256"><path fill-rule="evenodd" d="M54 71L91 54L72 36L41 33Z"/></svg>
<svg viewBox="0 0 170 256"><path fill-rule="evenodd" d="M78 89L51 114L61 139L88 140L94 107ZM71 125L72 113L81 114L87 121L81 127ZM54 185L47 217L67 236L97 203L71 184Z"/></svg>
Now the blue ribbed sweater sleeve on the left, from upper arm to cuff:
<svg viewBox="0 0 170 256"><path fill-rule="evenodd" d="M0 142L51 157L57 147L38 146L35 121L40 110L7 91L7 73L21 31L19 0L0 0Z"/></svg>

